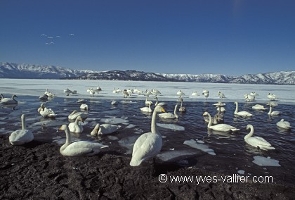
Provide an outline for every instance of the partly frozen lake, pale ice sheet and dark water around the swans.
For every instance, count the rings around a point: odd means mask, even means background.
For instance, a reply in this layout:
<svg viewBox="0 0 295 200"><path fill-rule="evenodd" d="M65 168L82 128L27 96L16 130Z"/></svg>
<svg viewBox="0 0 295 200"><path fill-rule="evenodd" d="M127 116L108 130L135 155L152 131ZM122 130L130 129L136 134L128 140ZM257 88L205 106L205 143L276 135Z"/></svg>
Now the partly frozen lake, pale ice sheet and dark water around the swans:
<svg viewBox="0 0 295 200"><path fill-rule="evenodd" d="M102 91L90 97L88 88L101 87ZM77 94L65 96L63 89L77 90ZM151 115L141 113L145 106L144 95L133 94L127 98L122 93L113 93L113 89L158 89L162 95L159 101L165 101L166 111L173 112L180 89L183 96L186 113L178 113L177 120L158 119L159 131L162 133L163 147L157 161L178 162L184 166L195 165L198 168L232 175L244 171L245 175L273 175L275 182L295 181L295 137L294 130L281 130L276 123L284 118L294 127L295 86L290 85L237 85L190 82L133 82L133 81L97 81L97 80L13 80L0 79L0 93L5 97L18 95L18 106L15 108L0 105L0 134L10 135L20 128L21 113L27 114L27 127L34 132L35 139L63 144L65 134L57 132L60 125L68 124L67 115L79 110L79 98L87 100L89 105L88 119L84 123L84 132L74 135L79 139L96 140L110 146L110 151L131 156L133 143L144 132L150 130ZM45 89L56 94L56 97L46 101L46 107L52 108L58 116L54 119L44 119L37 112L41 101L39 96ZM205 99L202 91L209 90L209 99ZM199 96L192 96L197 91ZM212 104L220 101L217 92L221 91L226 98L224 121L240 129L235 134L208 130L202 117L204 111L211 115L216 113ZM244 94L256 92L259 94L255 102L245 102ZM282 115L269 117L268 111L254 111L251 106L268 102L268 92L279 96L278 106L274 109L282 111ZM119 104L111 106L111 101L117 99ZM150 96L154 101L154 96ZM241 111L249 111L251 118L236 117L234 101L239 101ZM117 133L103 135L98 138L89 134L96 123L117 123L122 127ZM247 124L254 125L254 136L268 140L275 150L263 151L249 146L244 142L247 135ZM254 156L270 157L280 163L280 167L261 166L253 163ZM256 157L257 158L257 157Z"/></svg>

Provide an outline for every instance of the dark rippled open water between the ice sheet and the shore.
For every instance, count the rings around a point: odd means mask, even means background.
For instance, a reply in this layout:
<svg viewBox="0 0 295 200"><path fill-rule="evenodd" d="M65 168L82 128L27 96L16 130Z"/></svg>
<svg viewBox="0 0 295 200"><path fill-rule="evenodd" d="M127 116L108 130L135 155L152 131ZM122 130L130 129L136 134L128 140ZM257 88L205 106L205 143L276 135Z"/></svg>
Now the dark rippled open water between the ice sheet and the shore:
<svg viewBox="0 0 295 200"><path fill-rule="evenodd" d="M55 120L44 119L37 113L41 102L36 96L19 96L19 104L13 110L9 106L0 107L0 134L9 135L13 130L21 127L20 115L27 115L27 128L33 130L35 139L53 142L65 139L64 132L57 132L60 125L68 124L67 115L75 109L79 110L77 99L55 98L46 102L47 108L53 108L58 117ZM143 132L150 131L151 114L141 113L139 108L145 106L144 101L135 98L122 100L117 106L111 106L111 100L94 97L88 99L89 117L81 135L75 135L79 139L95 140L89 134L96 123L101 123L100 118L122 118L128 123L121 124L119 132L112 135L98 137L98 141L110 145L110 151L117 151L118 154L131 154L133 142ZM176 102L166 101L167 111L173 113ZM178 120L157 119L158 123L175 123L185 127L184 131L170 130L159 127L164 136L162 152L166 151L192 151L190 146L183 144L185 140L198 139L204 141L209 148L214 149L216 156L211 156L199 150L195 156L188 156L186 159L189 165L196 165L206 170L236 174L237 170L244 170L245 175L273 175L274 182L288 182L294 184L295 165L295 139L293 130L281 130L276 123L281 119L287 120L294 126L293 111L294 105L283 105L275 107L275 110L282 111L281 116L269 117L267 111L254 111L251 106L254 104L240 103L240 111L249 111L254 116L251 118L235 117L233 112L235 104L227 102L224 115L224 123L233 125L241 131L235 134L227 132L215 132L208 130L202 114L208 111L211 115L216 113L212 106L215 102L190 101L185 102L187 112L179 113ZM275 150L262 151L249 146L244 142L247 135L247 124L254 125L254 136L260 136L268 140L275 147ZM61 143L60 142L60 143ZM201 153L200 153L201 152ZM130 155L129 155L130 156ZM254 156L270 156L280 161L281 167L261 167L252 161Z"/></svg>

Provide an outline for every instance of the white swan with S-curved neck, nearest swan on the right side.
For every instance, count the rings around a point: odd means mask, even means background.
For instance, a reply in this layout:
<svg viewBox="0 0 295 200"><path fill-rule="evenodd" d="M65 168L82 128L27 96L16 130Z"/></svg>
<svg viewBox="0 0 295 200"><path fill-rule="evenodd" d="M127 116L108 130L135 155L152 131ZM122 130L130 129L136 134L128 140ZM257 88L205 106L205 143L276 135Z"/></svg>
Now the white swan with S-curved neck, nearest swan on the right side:
<svg viewBox="0 0 295 200"><path fill-rule="evenodd" d="M275 147L271 146L271 144L267 142L265 139L263 139L262 137L257 137L257 136L252 137L252 135L254 134L253 125L247 125L247 130L249 129L250 129L249 134L244 137L244 140L245 142L247 142L247 144L250 144L251 146L254 146L257 148L259 147L259 149L262 149L262 150L275 149Z"/></svg>

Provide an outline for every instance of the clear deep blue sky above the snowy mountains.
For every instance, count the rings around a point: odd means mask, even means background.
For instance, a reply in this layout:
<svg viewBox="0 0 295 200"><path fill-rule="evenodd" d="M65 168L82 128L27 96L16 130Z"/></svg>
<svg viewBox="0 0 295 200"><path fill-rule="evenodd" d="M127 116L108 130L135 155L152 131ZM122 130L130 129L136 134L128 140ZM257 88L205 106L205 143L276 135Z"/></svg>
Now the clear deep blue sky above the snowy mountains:
<svg viewBox="0 0 295 200"><path fill-rule="evenodd" d="M225 75L295 70L294 0L0 0L0 8L2 62Z"/></svg>

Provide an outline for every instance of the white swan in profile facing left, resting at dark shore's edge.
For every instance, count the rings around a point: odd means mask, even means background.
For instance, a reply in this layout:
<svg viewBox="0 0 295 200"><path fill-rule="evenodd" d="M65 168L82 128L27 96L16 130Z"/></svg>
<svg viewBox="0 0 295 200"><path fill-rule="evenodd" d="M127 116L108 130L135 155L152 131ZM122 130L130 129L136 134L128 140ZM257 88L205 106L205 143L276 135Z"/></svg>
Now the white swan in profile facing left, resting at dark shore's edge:
<svg viewBox="0 0 295 200"><path fill-rule="evenodd" d="M72 142L72 137L67 125L62 125L60 127L60 130L64 130L66 135L65 144L60 147L60 154L62 154L63 156L91 156L98 154L100 152L100 149L108 147L107 145L103 145L98 142Z"/></svg>

